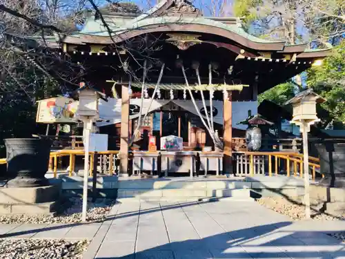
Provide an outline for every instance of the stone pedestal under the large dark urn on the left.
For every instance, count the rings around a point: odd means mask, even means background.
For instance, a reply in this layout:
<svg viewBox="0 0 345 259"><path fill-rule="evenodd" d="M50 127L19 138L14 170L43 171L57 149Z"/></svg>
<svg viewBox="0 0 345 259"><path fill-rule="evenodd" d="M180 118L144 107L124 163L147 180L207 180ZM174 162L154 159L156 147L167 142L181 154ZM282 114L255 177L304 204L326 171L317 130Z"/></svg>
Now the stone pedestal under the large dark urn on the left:
<svg viewBox="0 0 345 259"><path fill-rule="evenodd" d="M60 187L55 185L0 189L0 214L54 214Z"/></svg>

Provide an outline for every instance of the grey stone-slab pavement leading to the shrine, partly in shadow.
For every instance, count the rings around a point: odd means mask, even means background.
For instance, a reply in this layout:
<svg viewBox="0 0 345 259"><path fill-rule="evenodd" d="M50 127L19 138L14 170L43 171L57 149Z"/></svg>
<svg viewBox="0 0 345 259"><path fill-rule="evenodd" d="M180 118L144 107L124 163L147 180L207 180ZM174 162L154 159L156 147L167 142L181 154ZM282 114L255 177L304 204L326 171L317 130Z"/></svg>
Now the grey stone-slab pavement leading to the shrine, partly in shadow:
<svg viewBox="0 0 345 259"><path fill-rule="evenodd" d="M1 238L89 238L83 258L345 258L326 233L342 221L291 222L256 202L119 200L90 224L0 224Z"/></svg>

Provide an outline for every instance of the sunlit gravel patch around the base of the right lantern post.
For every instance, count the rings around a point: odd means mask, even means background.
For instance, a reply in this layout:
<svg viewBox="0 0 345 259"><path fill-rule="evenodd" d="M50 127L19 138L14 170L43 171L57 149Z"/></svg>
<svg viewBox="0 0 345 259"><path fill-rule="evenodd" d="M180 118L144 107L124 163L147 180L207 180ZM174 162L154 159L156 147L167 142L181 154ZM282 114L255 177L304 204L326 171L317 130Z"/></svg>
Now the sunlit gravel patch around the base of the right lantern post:
<svg viewBox="0 0 345 259"><path fill-rule="evenodd" d="M303 220L306 218L303 205L288 202L288 200L284 198L265 197L257 199L257 202L268 209L276 211L277 213L288 215L292 220ZM311 210L311 213L313 220L345 220L345 217L336 218L331 215L326 215L325 213L313 211L313 209Z"/></svg>

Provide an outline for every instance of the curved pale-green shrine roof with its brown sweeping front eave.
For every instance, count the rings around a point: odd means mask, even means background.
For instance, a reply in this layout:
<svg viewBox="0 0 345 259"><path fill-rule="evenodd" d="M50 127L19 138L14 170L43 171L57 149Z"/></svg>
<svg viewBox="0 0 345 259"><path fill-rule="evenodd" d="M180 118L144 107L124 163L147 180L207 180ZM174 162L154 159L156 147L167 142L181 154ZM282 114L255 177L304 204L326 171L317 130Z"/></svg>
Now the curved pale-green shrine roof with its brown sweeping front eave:
<svg viewBox="0 0 345 259"><path fill-rule="evenodd" d="M195 17L197 13L197 17ZM110 12L104 12L110 15ZM178 14L178 15L177 15ZM113 13L113 15L118 15ZM128 20L117 27L110 26L112 37L100 21L89 17L88 30L74 35L60 35L59 43L72 45L86 44L119 44L133 37L153 32L193 32L213 34L236 41L243 48L257 52L278 52L287 55L287 59L326 57L327 50L311 52L306 50L307 44L287 45L285 41L266 41L249 35L239 26L238 18L202 17L202 14L188 0L161 0L156 6L134 19Z"/></svg>

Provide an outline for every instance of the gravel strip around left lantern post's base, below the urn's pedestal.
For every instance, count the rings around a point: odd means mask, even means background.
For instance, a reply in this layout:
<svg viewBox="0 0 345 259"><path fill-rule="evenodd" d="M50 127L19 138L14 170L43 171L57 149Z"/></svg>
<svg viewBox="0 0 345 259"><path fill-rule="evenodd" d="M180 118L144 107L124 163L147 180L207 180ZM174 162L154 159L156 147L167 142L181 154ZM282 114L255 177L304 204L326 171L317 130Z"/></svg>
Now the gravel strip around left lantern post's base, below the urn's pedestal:
<svg viewBox="0 0 345 259"><path fill-rule="evenodd" d="M97 199L95 202L88 202L88 222L99 222L106 218L114 200ZM50 215L0 215L0 223L75 223L81 222L81 198L70 198L66 202L63 213L53 217Z"/></svg>

